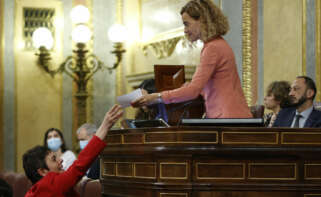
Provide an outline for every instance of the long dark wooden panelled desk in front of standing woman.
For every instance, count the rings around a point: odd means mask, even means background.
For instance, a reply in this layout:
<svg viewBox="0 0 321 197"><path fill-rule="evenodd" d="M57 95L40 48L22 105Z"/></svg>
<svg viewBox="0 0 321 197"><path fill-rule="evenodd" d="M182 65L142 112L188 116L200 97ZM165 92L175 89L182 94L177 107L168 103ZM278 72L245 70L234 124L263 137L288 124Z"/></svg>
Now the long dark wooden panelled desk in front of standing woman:
<svg viewBox="0 0 321 197"><path fill-rule="evenodd" d="M321 197L321 129L110 131L104 196Z"/></svg>

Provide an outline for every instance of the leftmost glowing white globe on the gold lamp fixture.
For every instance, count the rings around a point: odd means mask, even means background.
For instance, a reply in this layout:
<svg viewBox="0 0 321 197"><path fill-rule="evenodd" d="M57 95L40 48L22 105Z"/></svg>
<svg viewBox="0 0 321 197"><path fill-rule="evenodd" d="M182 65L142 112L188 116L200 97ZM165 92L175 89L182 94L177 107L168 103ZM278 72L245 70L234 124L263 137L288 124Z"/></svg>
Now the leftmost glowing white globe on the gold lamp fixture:
<svg viewBox="0 0 321 197"><path fill-rule="evenodd" d="M37 49L41 46L50 50L53 47L53 37L48 28L40 27L32 33L32 42Z"/></svg>

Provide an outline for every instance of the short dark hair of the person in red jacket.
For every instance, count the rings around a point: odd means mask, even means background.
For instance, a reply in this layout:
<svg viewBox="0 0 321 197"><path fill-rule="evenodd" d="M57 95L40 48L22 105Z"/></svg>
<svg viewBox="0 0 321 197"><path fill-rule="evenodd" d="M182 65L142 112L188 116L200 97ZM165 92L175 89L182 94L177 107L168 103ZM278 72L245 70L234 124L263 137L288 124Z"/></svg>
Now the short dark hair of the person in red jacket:
<svg viewBox="0 0 321 197"><path fill-rule="evenodd" d="M46 164L46 156L50 152L47 147L38 145L23 154L23 169L32 184L37 183L42 178L38 173L38 169L44 168L49 170Z"/></svg>

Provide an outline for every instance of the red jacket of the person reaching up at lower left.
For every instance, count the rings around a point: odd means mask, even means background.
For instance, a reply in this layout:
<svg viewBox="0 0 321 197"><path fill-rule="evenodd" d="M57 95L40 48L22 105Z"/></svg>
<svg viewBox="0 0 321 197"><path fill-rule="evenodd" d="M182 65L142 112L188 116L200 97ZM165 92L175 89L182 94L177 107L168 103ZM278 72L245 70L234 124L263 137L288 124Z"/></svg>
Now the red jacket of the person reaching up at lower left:
<svg viewBox="0 0 321 197"><path fill-rule="evenodd" d="M79 196L74 186L84 176L91 163L106 146L105 142L94 136L80 152L78 159L62 173L49 172L34 184L25 197L33 196Z"/></svg>

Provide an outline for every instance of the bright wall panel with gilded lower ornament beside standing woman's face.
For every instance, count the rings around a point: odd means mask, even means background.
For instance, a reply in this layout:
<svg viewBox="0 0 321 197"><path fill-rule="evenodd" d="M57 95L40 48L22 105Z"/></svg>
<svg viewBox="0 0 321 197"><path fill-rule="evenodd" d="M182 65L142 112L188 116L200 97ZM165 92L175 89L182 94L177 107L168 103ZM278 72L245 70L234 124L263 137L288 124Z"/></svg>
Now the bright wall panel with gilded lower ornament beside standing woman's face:
<svg viewBox="0 0 321 197"><path fill-rule="evenodd" d="M150 48L158 59L172 55L180 39L184 37L179 10L187 0L143 1L141 33L144 55ZM160 9L161 8L161 9Z"/></svg>

